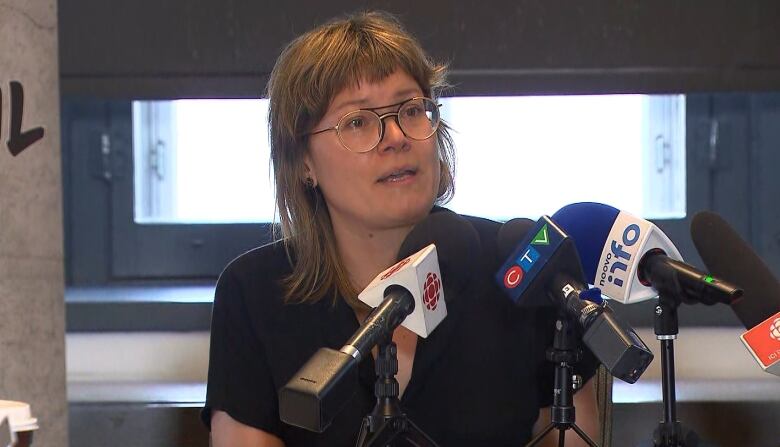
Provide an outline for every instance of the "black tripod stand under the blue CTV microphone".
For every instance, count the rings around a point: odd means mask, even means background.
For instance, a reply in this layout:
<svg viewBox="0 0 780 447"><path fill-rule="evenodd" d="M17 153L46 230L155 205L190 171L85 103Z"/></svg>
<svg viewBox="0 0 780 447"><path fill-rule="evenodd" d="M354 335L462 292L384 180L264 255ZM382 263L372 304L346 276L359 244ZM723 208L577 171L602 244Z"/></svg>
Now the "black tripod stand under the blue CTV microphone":
<svg viewBox="0 0 780 447"><path fill-rule="evenodd" d="M555 322L555 338L553 347L547 349L547 360L555 363L555 389L553 390L553 405L551 408L551 421L547 427L537 434L526 447L539 444L549 432L558 429L558 446L563 446L566 439L566 430L573 429L580 439L590 447L598 447L588 435L575 423L574 412L574 365L582 359L582 349L578 344L578 337L574 330L576 325L571 318L561 312L558 321ZM579 378L579 377L578 377ZM579 378L578 387L582 386Z"/></svg>

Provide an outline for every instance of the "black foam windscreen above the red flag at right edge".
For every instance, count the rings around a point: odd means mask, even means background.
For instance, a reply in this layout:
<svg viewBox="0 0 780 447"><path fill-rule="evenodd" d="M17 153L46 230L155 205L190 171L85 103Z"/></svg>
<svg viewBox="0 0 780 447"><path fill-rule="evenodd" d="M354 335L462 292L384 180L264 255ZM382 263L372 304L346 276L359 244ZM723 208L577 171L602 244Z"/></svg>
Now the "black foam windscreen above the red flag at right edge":
<svg viewBox="0 0 780 447"><path fill-rule="evenodd" d="M691 237L713 276L741 287L731 308L747 329L780 311L780 282L722 217L709 211L693 216Z"/></svg>

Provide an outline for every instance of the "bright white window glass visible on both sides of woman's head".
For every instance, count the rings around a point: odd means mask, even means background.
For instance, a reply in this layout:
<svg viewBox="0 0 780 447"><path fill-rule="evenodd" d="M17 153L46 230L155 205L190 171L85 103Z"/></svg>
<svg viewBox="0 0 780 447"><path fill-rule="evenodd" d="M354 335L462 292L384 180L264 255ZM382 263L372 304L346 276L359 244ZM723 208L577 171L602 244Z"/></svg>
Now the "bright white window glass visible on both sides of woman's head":
<svg viewBox="0 0 780 447"><path fill-rule="evenodd" d="M684 96L441 100L465 214L538 218L577 201L685 215ZM134 102L139 223L268 222L266 100Z"/></svg>

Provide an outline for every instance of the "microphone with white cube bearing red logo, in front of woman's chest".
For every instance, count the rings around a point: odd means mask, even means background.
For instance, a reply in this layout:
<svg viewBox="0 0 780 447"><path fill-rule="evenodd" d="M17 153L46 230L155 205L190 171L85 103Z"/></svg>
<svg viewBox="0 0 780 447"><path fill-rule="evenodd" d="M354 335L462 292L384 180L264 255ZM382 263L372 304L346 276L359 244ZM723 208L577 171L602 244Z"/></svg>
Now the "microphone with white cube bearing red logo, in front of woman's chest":
<svg viewBox="0 0 780 447"><path fill-rule="evenodd" d="M447 314L444 289L452 296L457 293L450 293L450 283L455 292L468 283L468 254L479 250L476 230L449 210L431 213L415 225L399 251L401 261L360 293L362 301L378 305L358 330L338 351L320 348L279 391L281 420L325 431L354 394L360 360L399 325L427 337Z"/></svg>

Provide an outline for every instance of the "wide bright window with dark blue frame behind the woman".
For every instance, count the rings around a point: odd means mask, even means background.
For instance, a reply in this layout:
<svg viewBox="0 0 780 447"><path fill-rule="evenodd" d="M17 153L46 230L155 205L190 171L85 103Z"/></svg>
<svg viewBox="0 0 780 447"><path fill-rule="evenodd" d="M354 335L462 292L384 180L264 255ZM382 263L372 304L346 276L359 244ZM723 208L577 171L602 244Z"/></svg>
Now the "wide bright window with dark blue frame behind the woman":
<svg viewBox="0 0 780 447"><path fill-rule="evenodd" d="M208 113L208 124L194 121L194 130L186 132L195 143L183 145L187 141L182 137L184 126L193 121L173 126L174 105L198 102L134 105L132 101L63 99L69 287L160 283L178 287L182 281L192 284L195 280L213 287L230 259L270 240L268 225L257 223L273 212L270 167L264 153L267 137L262 133L265 106L257 100L219 100L208 107L211 101L202 102L207 110L220 108L219 113ZM777 207L766 206L773 203L780 178L773 171L780 154L776 150L780 129L777 94L445 98L442 102L445 119L455 128L459 156L457 195L450 207L460 212L533 218L575 200L608 202L653 218L686 260L701 267L690 240L689 217L710 209L752 242L771 268L780 265L773 225L778 221ZM496 105L501 102L505 108ZM477 103L487 104L492 112L480 111ZM201 155L212 157L205 163L175 161L174 156L188 153L185 146L212 138L206 135L217 124L211 119L230 116L236 105L247 109L225 122L240 124L226 128L241 135L235 139L238 143L227 147L231 140L221 139L203 145ZM502 131L485 132L489 127ZM248 130L256 134L240 134ZM242 151L246 155L237 155ZM245 166L228 172L247 169L244 172L251 172L246 174L251 178L219 174L217 162L238 157L246 157L240 163ZM491 157L498 161L485 164ZM191 170L190 166L207 169ZM171 172L185 169L191 172L180 172L178 177ZM141 171L145 175L139 175ZM221 209L218 215L209 216L201 211L170 211L175 209L172 198L176 194L195 190L176 186L175 178L193 179L214 189L233 181L255 183L228 188L249 191L236 195L235 212ZM181 202L197 204L203 197ZM146 204L141 205L144 200ZM202 324L198 324L207 327L207 303L200 304L206 306L198 308L202 314L197 317ZM703 324L734 320L730 312L718 309L723 308L683 306L681 315L688 313ZM630 306L630 310L641 317L634 322L650 324L645 317L651 312L643 306ZM149 311L138 311L144 312ZM170 312L176 314L179 309ZM111 308L104 317L115 313ZM91 314L83 315L90 318ZM192 319L175 319L186 323L181 327L195 324ZM137 324L143 326L148 319L142 320ZM170 326L162 320L154 327ZM126 327L123 324L117 327Z"/></svg>

